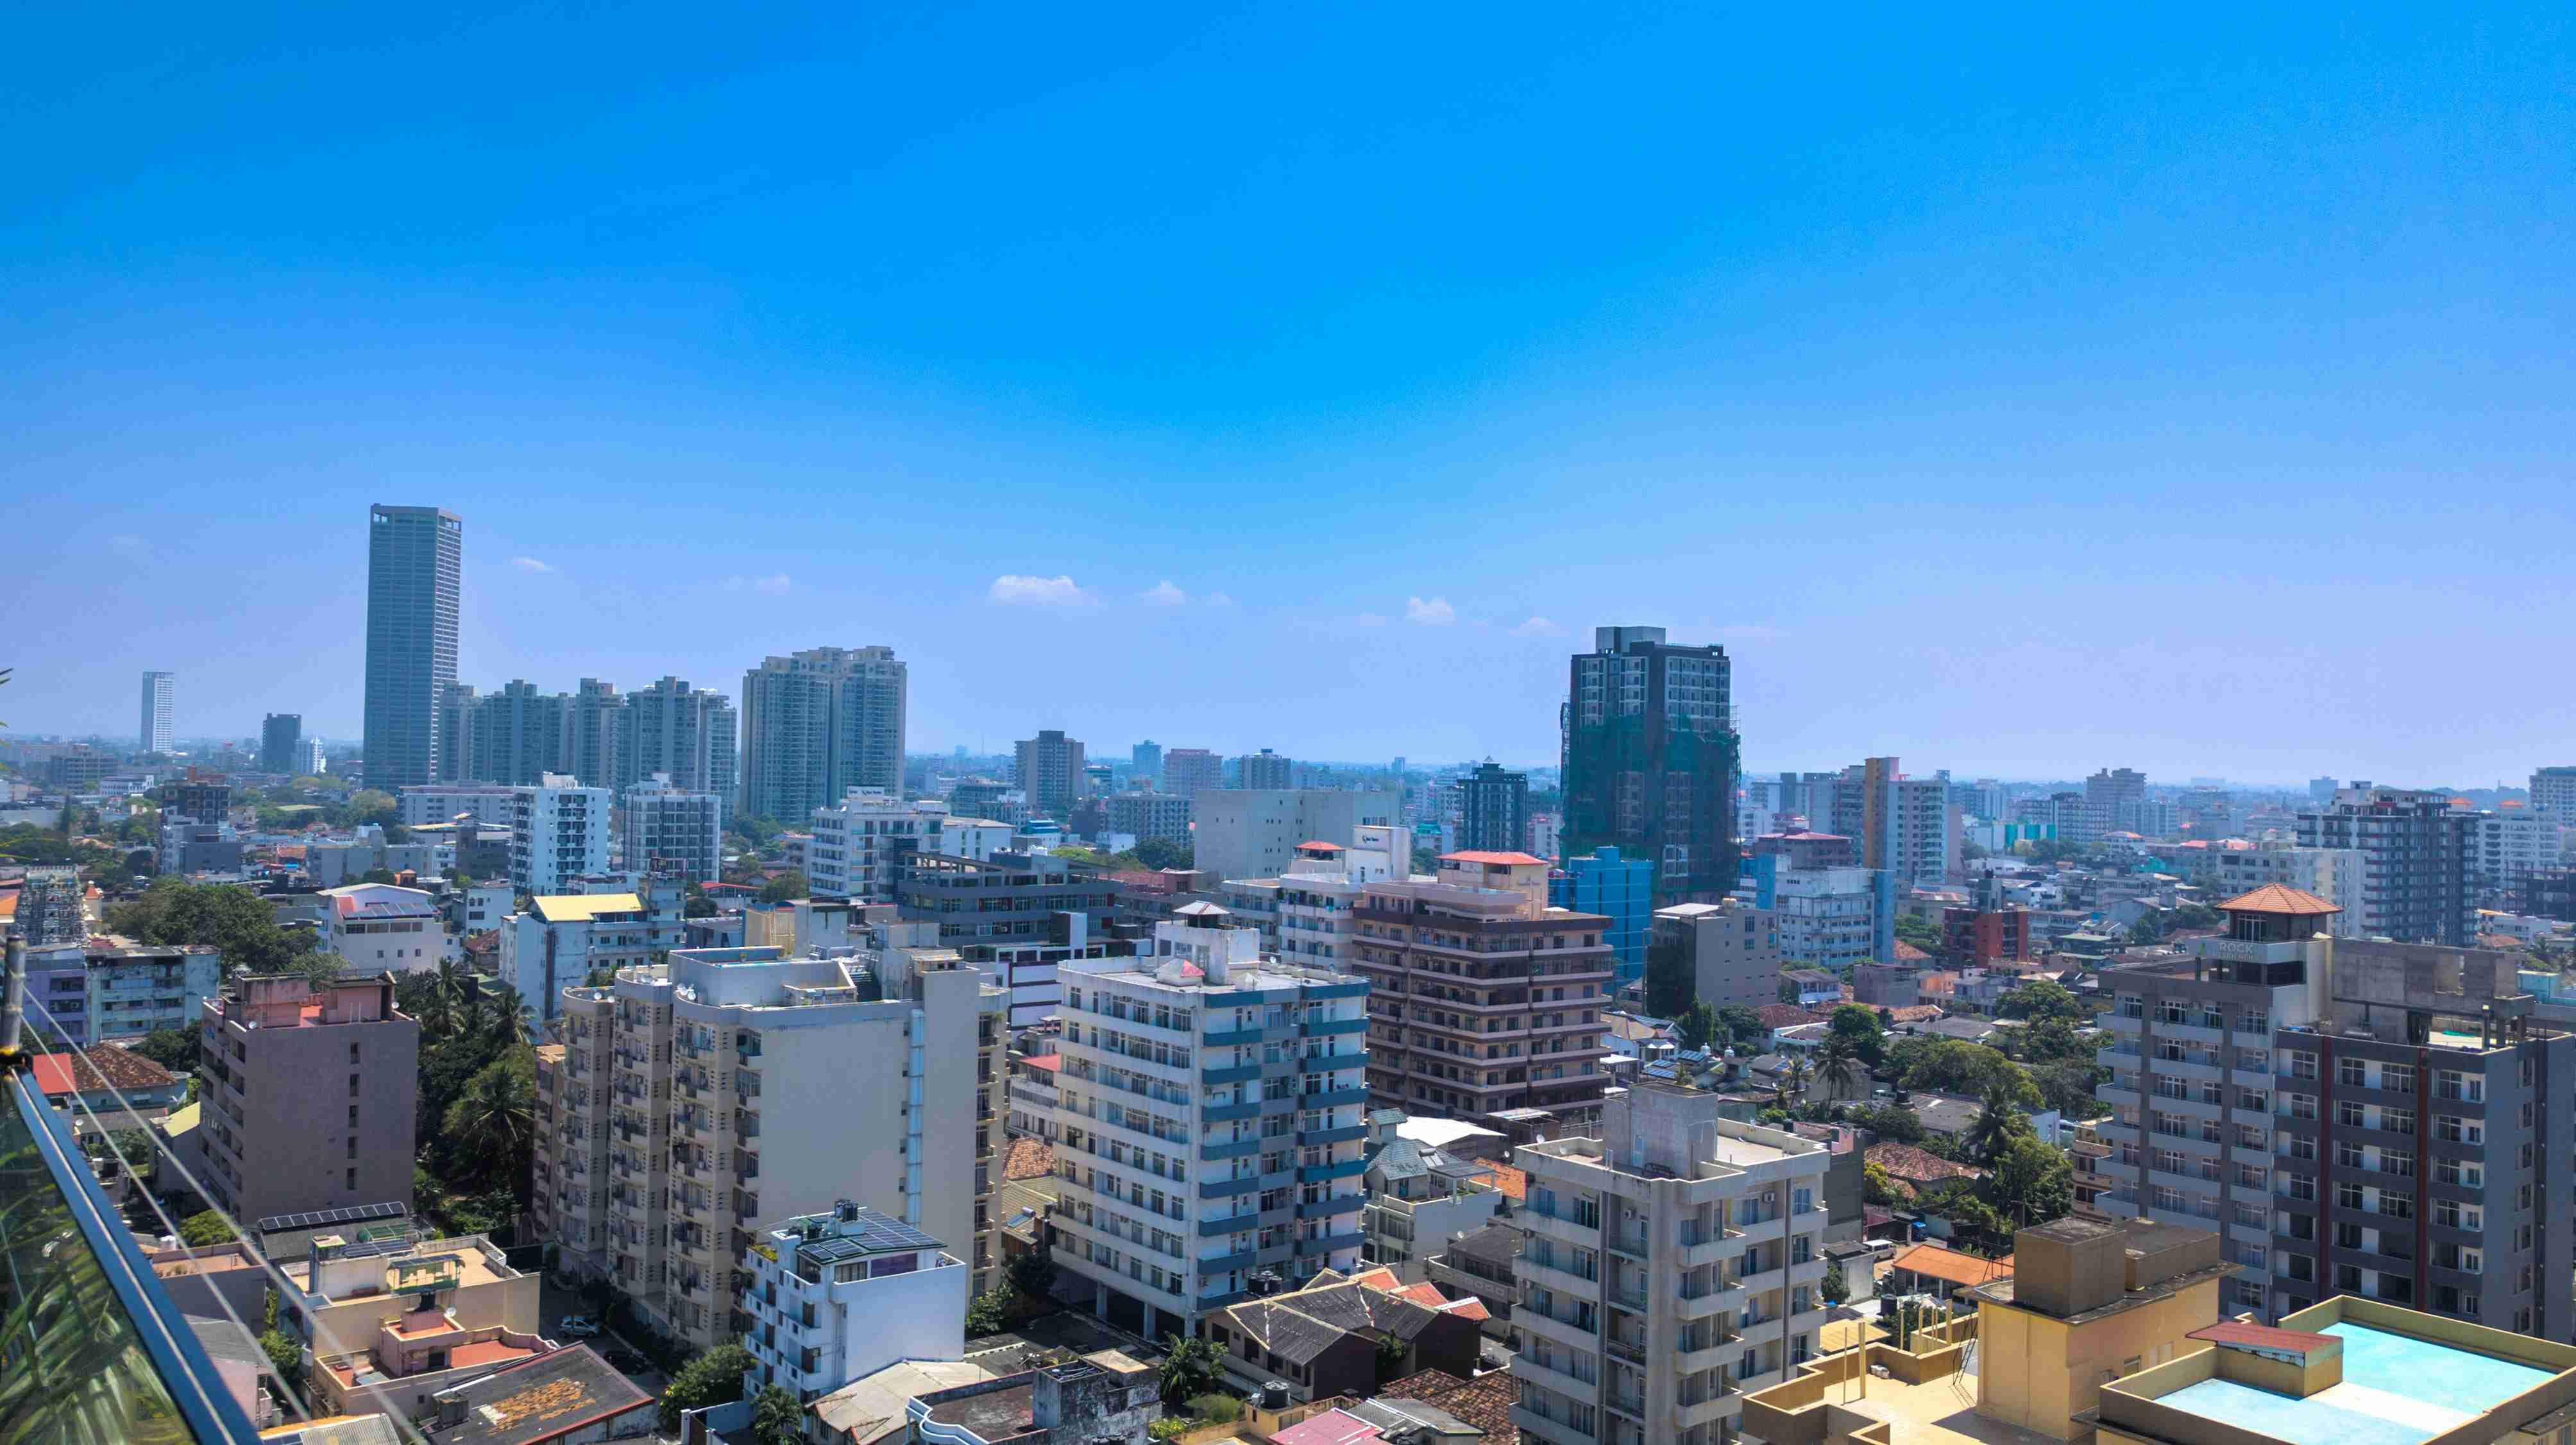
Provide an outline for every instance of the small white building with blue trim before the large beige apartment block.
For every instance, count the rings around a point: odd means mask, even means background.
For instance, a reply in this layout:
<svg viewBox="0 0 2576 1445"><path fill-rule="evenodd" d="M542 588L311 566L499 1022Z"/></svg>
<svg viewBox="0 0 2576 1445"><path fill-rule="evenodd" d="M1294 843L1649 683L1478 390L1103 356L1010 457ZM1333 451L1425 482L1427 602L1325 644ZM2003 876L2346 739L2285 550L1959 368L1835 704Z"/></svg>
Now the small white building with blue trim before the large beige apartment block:
<svg viewBox="0 0 2576 1445"><path fill-rule="evenodd" d="M896 1216L837 1200L742 1252L757 1386L811 1404L904 1360L963 1360L974 1270Z"/></svg>

